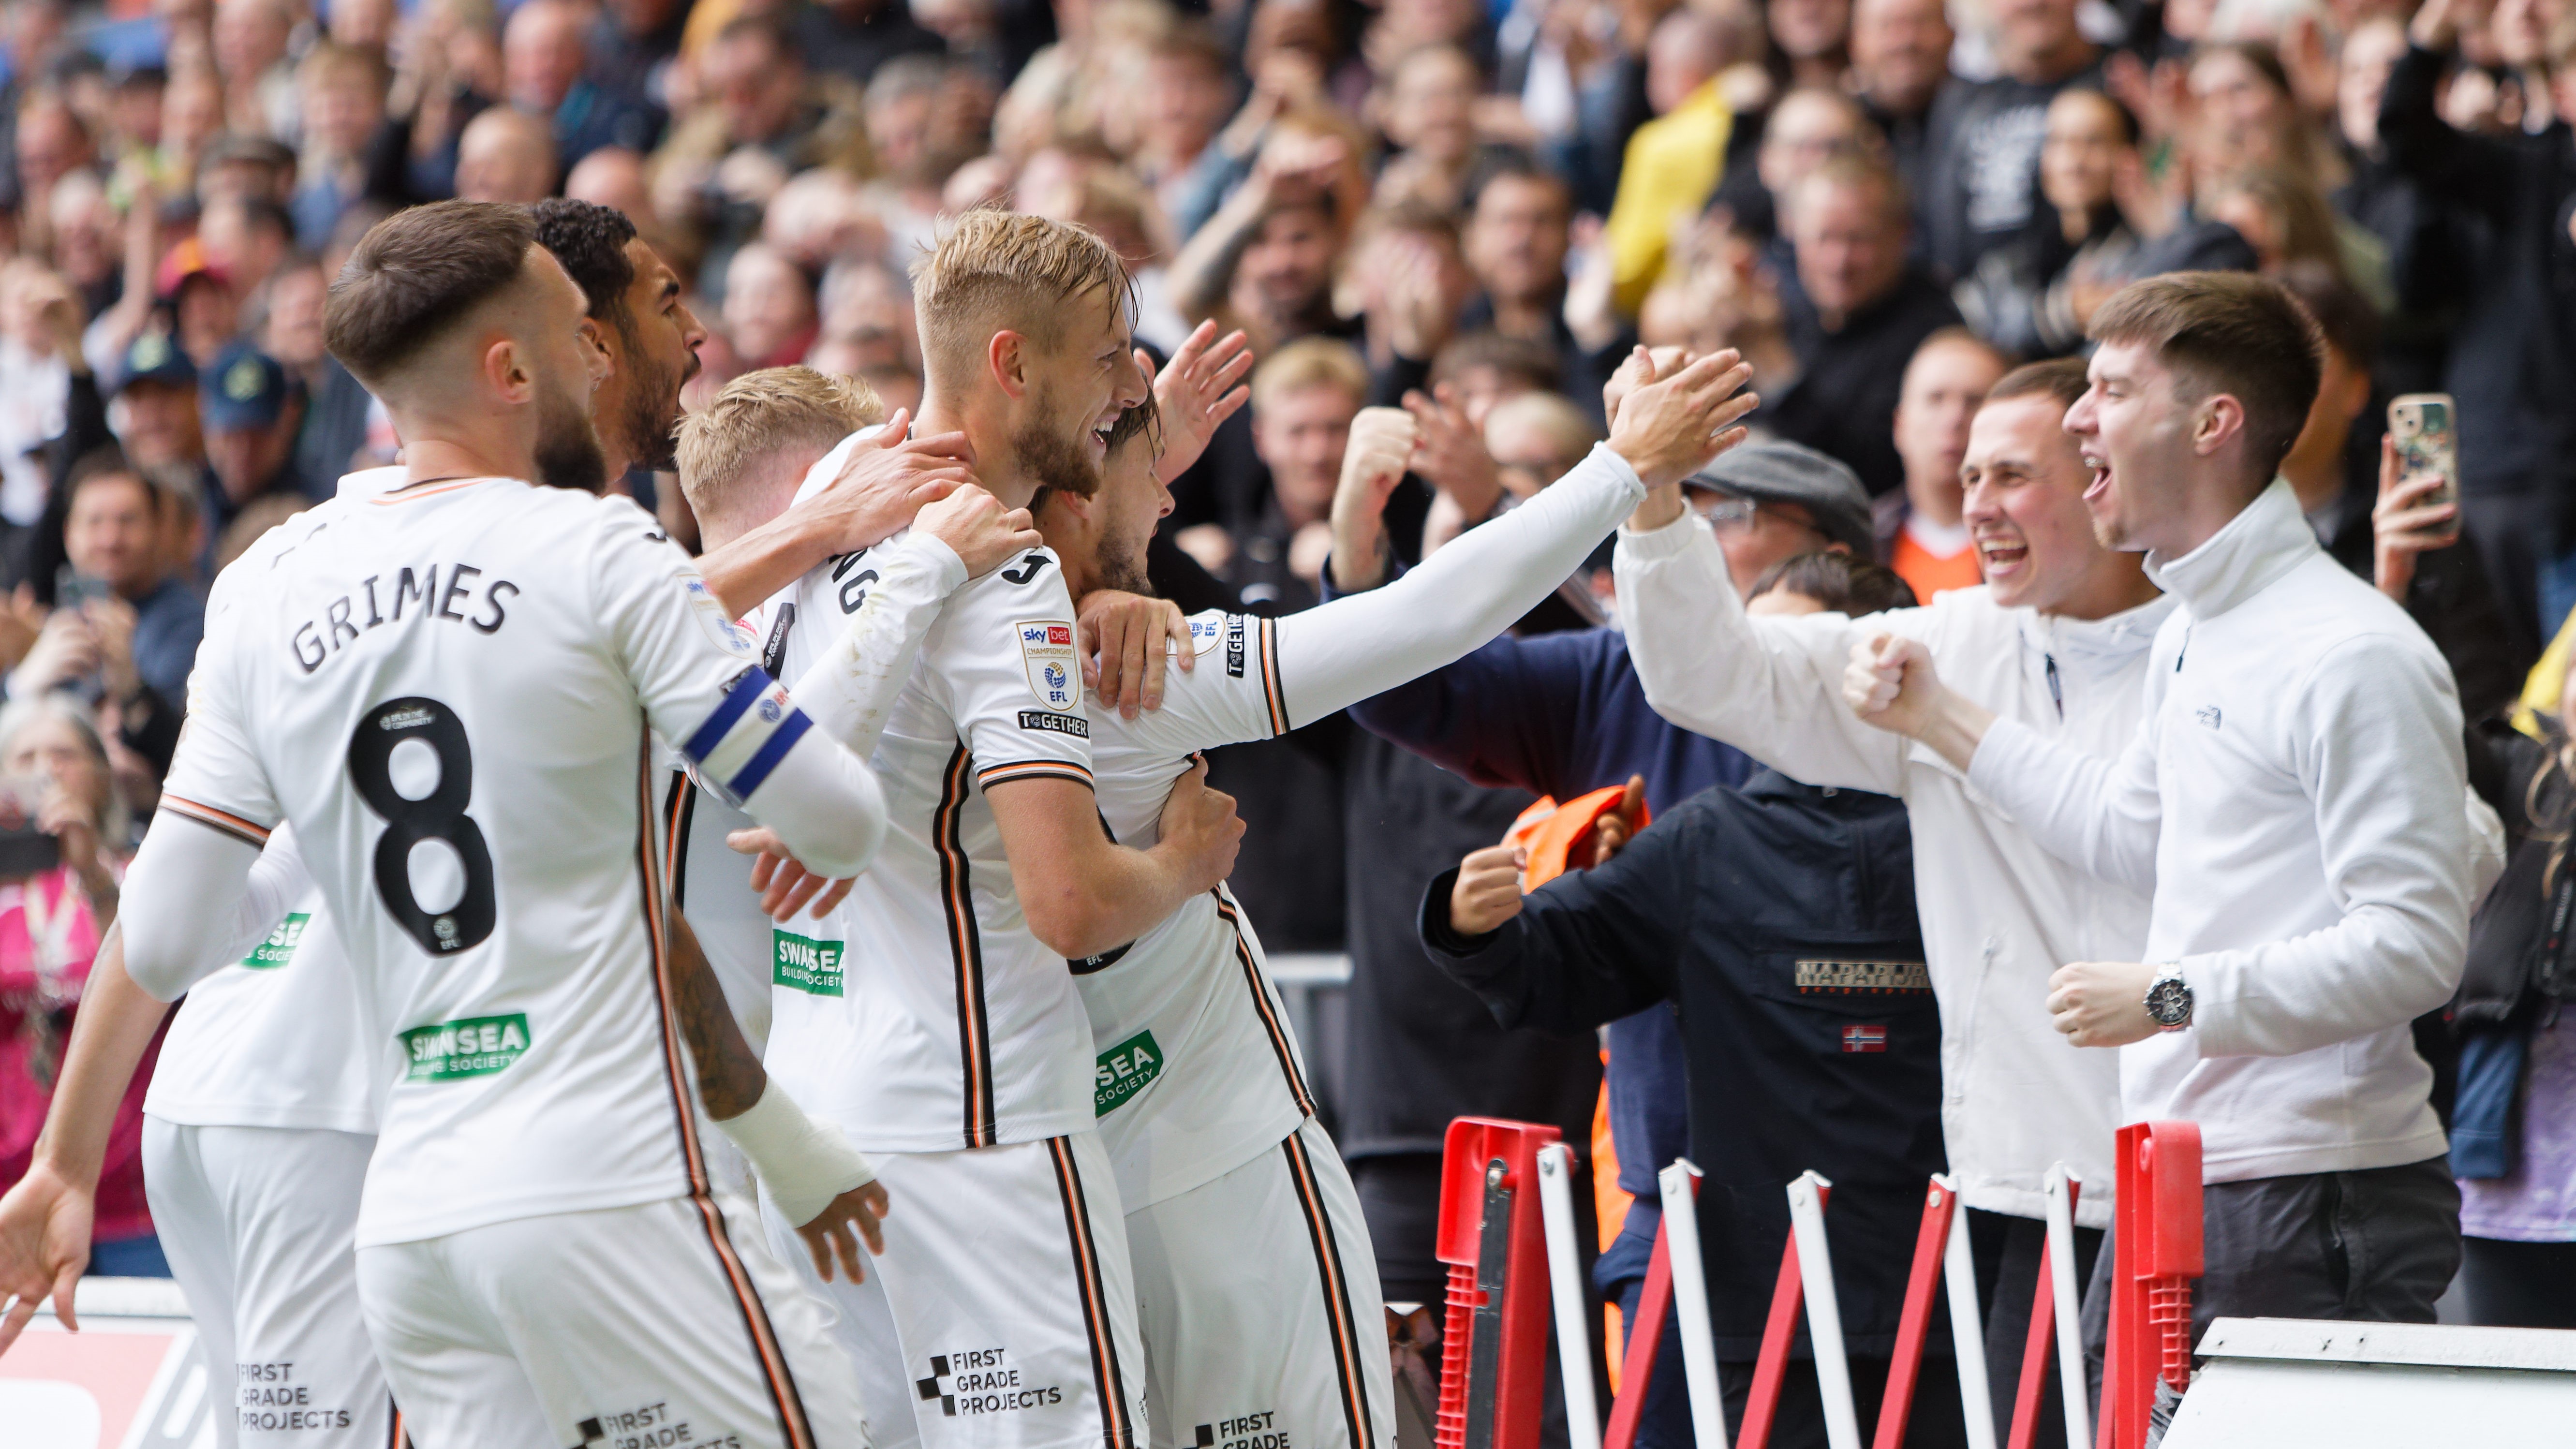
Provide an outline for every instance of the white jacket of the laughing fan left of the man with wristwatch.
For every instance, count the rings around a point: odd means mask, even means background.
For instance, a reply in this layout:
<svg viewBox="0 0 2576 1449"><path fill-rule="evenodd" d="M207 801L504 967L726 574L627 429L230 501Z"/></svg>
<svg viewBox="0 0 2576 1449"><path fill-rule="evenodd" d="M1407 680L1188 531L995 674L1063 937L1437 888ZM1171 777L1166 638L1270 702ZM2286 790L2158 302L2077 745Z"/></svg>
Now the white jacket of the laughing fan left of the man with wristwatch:
<svg viewBox="0 0 2576 1449"><path fill-rule="evenodd" d="M2136 960L2146 888L2105 885L2050 854L1935 752L1842 703L1852 643L1919 638L1942 677L2071 752L2115 757L2138 731L2146 651L2172 600L2105 620L2002 607L1953 589L1865 620L1747 618L1716 533L1692 515L1620 530L1618 597L1646 700L1806 780L1899 795L1914 826L1914 901L1942 1019L1942 1135L1971 1207L2045 1215L2050 1163L2084 1179L2076 1220L2110 1225L2117 1063L2048 1024L2048 973Z"/></svg>

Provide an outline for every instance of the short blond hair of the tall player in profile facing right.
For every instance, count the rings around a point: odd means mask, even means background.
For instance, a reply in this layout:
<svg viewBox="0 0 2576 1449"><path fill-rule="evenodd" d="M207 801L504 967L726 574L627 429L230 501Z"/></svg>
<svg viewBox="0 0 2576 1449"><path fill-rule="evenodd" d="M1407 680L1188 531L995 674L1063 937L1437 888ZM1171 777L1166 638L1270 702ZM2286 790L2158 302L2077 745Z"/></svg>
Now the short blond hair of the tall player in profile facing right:
<svg viewBox="0 0 2576 1449"><path fill-rule="evenodd" d="M933 386L961 389L994 332L1056 347L1064 304L1090 291L1103 291L1118 309L1131 293L1126 263L1090 226L992 206L966 211L938 247L912 263L922 368Z"/></svg>

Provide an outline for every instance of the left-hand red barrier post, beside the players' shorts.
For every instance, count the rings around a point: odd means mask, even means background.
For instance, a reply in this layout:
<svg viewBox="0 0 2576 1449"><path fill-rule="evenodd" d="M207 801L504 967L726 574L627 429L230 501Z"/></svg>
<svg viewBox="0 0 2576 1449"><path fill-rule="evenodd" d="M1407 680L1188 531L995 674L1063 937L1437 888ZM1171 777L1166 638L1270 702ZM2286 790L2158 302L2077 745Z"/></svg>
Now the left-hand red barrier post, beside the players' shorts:
<svg viewBox="0 0 2576 1449"><path fill-rule="evenodd" d="M1558 1138L1556 1127L1535 1122L1450 1122L1435 1243L1450 1266L1432 1426L1437 1449L1538 1449L1548 1374L1548 1235L1538 1204L1538 1148Z"/></svg>

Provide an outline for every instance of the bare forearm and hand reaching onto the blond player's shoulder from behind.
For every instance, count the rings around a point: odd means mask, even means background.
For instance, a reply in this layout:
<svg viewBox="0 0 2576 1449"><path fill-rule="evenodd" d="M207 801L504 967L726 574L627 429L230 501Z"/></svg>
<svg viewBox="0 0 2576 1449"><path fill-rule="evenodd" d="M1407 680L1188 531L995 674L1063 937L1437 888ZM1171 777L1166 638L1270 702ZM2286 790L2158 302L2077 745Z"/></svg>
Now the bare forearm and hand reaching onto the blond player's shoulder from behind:
<svg viewBox="0 0 2576 1449"><path fill-rule="evenodd" d="M871 438L848 438L806 479L832 484L698 558L706 587L732 618L760 607L824 558L858 553L891 538L930 502L974 481L963 432L904 438L909 412L894 409Z"/></svg>

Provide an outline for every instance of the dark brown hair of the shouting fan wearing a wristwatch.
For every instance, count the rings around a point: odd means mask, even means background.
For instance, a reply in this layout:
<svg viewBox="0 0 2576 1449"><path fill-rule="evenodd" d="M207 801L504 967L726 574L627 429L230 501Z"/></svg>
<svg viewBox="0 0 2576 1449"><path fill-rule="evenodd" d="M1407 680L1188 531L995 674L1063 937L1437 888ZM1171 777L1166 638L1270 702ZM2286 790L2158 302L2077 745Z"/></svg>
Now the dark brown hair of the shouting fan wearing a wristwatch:
<svg viewBox="0 0 2576 1449"><path fill-rule="evenodd" d="M2094 311L2094 342L2141 342L2197 396L2246 409L2246 458L2269 479L2308 425L2321 373L2316 319L2277 281L2251 273L2166 273L2120 288Z"/></svg>

